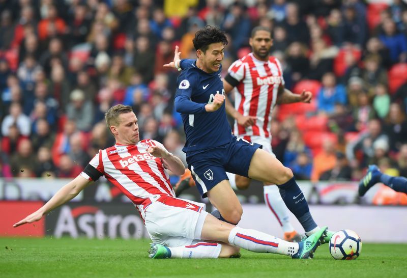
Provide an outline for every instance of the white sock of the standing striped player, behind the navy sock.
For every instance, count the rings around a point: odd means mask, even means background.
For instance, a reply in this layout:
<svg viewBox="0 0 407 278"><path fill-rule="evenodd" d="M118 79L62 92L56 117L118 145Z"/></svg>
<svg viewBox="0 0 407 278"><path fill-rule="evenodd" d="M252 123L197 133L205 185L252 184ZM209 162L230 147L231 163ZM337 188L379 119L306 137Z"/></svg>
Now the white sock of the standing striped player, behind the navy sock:
<svg viewBox="0 0 407 278"><path fill-rule="evenodd" d="M288 209L283 199L281 199L278 187L276 185L265 185L263 192L266 206L273 212L274 216L276 216L283 232L293 232L295 229L289 221Z"/></svg>

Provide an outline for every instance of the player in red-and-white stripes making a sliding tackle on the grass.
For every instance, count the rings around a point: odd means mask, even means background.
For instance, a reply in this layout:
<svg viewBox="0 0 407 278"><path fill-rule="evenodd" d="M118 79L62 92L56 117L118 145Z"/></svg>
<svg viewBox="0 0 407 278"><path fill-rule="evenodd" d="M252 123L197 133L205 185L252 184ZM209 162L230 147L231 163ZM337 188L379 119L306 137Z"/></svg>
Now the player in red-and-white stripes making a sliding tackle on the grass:
<svg viewBox="0 0 407 278"><path fill-rule="evenodd" d="M153 241L150 258L229 258L238 256L241 247L306 259L313 257L324 240L327 227L305 241L288 242L225 223L206 212L205 204L176 198L167 170L176 175L184 173L181 159L157 141L139 141L137 117L130 106L111 107L105 119L116 144L100 150L80 175L14 227L38 221L73 199L92 181L105 176L132 201L143 218Z"/></svg>

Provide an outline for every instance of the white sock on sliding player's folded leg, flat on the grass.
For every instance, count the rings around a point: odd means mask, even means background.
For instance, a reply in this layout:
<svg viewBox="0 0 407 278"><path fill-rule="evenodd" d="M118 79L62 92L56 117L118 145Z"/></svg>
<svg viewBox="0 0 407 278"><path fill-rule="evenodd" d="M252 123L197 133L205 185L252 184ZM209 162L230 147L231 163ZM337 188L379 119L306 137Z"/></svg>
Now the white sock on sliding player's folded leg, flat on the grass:
<svg viewBox="0 0 407 278"><path fill-rule="evenodd" d="M222 245L211 242L197 242L193 245L167 247L171 251L171 258L199 259L219 257Z"/></svg>

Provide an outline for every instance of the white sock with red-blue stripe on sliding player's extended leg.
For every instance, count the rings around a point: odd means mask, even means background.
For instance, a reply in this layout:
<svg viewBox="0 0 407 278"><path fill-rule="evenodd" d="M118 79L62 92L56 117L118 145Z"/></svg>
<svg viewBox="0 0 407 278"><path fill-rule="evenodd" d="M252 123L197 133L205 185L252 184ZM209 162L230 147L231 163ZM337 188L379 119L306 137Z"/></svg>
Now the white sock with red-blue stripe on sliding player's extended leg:
<svg viewBox="0 0 407 278"><path fill-rule="evenodd" d="M299 244L256 231L235 227L230 231L229 243L256 253L276 253L293 256Z"/></svg>

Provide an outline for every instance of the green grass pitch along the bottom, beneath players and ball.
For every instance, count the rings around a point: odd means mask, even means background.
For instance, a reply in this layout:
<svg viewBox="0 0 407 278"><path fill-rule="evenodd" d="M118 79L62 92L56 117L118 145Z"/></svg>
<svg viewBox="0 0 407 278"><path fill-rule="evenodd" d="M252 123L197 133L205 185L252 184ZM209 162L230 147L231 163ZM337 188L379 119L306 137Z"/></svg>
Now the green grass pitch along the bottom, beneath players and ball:
<svg viewBox="0 0 407 278"><path fill-rule="evenodd" d="M313 260L242 252L240 259L151 260L150 240L0 238L0 277L406 277L407 244L364 243L354 261L328 245Z"/></svg>

